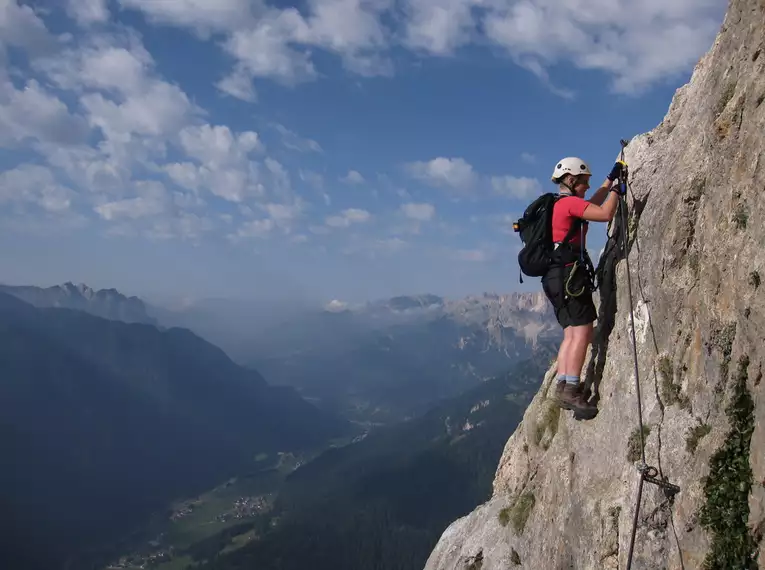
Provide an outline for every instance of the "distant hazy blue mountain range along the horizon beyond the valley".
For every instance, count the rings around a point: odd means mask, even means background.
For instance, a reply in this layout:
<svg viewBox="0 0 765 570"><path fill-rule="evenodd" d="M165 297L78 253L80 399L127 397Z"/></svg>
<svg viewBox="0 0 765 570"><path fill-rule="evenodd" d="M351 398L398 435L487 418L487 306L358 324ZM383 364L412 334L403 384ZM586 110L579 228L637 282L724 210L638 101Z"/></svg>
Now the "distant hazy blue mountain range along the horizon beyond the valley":
<svg viewBox="0 0 765 570"><path fill-rule="evenodd" d="M561 337L541 292L422 294L325 307L208 299L169 309L83 284L5 291L39 307L188 328L270 383L374 424L419 415L530 354L552 356Z"/></svg>

